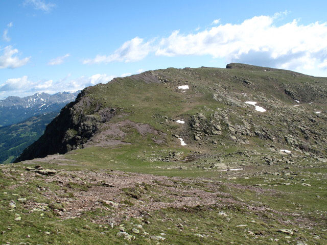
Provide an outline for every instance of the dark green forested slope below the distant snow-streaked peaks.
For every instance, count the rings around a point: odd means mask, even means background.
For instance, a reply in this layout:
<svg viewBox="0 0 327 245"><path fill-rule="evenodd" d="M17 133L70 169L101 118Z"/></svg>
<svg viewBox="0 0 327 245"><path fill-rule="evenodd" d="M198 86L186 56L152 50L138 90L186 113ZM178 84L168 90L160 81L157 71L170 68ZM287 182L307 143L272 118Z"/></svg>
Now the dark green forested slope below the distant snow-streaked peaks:
<svg viewBox="0 0 327 245"><path fill-rule="evenodd" d="M57 112L33 116L19 124L0 128L0 164L13 162L22 151L36 141L45 126L56 117Z"/></svg>

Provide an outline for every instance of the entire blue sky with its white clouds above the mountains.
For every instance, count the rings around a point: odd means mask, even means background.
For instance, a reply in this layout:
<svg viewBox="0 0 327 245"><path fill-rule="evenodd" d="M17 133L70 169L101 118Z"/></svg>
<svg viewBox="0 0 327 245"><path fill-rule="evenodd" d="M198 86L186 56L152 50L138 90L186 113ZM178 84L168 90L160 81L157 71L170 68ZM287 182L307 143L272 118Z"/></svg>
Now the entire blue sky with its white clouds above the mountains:
<svg viewBox="0 0 327 245"><path fill-rule="evenodd" d="M327 77L326 1L0 1L0 99L231 60Z"/></svg>

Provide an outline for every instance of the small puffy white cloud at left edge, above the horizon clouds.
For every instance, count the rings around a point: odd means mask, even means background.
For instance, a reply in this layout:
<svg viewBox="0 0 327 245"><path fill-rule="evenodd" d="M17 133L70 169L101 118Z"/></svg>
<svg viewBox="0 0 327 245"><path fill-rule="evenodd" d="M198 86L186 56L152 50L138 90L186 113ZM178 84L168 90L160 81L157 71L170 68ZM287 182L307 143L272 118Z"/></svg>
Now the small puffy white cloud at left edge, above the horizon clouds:
<svg viewBox="0 0 327 245"><path fill-rule="evenodd" d="M26 65L29 62L31 57L24 59L19 59L16 54L18 50L13 48L11 45L6 46L3 49L3 54L0 55L0 69L3 68L17 68L23 65Z"/></svg>

